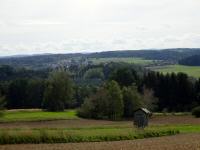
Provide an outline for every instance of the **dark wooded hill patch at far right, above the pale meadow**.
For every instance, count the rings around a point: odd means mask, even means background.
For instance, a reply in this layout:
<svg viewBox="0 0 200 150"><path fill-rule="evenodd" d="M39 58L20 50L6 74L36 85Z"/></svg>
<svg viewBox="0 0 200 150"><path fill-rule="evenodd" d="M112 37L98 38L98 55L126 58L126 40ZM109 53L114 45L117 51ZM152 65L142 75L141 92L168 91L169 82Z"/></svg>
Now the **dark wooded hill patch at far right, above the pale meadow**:
<svg viewBox="0 0 200 150"><path fill-rule="evenodd" d="M179 64L187 66L200 66L200 55L194 55L179 60Z"/></svg>

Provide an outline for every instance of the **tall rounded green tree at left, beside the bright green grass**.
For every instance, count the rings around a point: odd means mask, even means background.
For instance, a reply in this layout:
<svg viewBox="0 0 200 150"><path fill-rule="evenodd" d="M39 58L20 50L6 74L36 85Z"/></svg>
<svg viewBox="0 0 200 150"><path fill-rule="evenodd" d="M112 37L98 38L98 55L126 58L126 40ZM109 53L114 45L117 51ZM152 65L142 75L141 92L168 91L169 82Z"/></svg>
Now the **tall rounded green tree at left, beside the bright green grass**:
<svg viewBox="0 0 200 150"><path fill-rule="evenodd" d="M73 83L65 71L50 73L44 92L43 108L49 111L64 111L72 103Z"/></svg>

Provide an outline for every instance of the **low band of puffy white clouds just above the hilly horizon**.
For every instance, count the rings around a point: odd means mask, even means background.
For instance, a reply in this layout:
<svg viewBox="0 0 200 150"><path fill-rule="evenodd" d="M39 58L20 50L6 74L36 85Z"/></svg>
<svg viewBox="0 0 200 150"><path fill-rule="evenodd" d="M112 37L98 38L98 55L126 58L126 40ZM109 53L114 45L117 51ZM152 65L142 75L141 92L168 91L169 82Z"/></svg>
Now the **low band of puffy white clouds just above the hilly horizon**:
<svg viewBox="0 0 200 150"><path fill-rule="evenodd" d="M105 50L151 48L183 48L200 47L200 34L187 34L183 36L166 36L161 38L114 38L110 40L68 40L61 42L33 43L33 44L0 44L1 55L34 54L34 53L75 53Z"/></svg>

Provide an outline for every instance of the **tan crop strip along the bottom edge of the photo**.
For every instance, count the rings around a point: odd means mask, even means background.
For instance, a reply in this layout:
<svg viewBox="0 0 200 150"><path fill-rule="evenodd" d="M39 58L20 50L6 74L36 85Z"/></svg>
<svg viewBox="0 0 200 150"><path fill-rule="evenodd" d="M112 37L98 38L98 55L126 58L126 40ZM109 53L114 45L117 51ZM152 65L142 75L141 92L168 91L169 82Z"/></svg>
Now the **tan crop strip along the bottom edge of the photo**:
<svg viewBox="0 0 200 150"><path fill-rule="evenodd" d="M3 145L0 150L200 150L200 134L180 134L133 141Z"/></svg>

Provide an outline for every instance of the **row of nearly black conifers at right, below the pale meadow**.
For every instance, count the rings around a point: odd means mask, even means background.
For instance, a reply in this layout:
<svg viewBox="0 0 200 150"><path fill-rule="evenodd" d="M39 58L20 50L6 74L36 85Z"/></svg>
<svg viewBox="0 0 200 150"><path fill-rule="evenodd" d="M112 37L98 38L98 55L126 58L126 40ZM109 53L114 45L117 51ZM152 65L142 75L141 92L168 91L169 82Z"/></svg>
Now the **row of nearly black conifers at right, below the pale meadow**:
<svg viewBox="0 0 200 150"><path fill-rule="evenodd" d="M184 73L149 72L144 76L143 85L153 89L158 98L157 111L191 111L200 105L200 80Z"/></svg>

